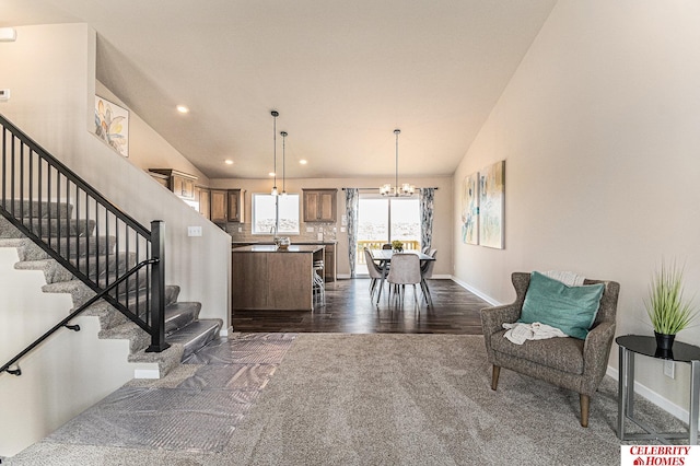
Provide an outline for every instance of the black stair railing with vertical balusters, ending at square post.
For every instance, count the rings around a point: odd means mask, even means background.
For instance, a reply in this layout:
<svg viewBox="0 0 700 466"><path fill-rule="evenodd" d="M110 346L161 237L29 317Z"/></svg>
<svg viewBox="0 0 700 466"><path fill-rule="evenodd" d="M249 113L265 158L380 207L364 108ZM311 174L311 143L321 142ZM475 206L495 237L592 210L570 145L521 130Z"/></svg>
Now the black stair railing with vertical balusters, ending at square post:
<svg viewBox="0 0 700 466"><path fill-rule="evenodd" d="M2 115L0 127L0 213L145 330L147 351L166 349L164 222L149 231Z"/></svg>

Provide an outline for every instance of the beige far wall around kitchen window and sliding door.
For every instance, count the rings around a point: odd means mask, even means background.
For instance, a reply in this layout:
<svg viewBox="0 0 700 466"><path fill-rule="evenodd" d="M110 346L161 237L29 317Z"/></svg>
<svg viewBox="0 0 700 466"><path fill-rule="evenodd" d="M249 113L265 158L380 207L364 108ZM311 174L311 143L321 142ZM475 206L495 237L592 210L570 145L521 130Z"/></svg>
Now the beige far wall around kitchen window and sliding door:
<svg viewBox="0 0 700 466"><path fill-rule="evenodd" d="M346 212L346 196L341 188L370 188L378 187L386 183L386 179L373 179L373 178L292 178L287 179L287 191L299 193L301 195L302 188L337 188L337 209L338 221L337 240L338 248L336 257L338 261L338 275L340 277L350 276L350 260L348 258L348 233L341 232L341 215ZM451 276L453 270L452 263L452 178L450 177L424 177L424 178L407 178L406 183L411 183L417 187L436 187L434 199L434 220L433 220L433 241L432 247L438 249L438 261L435 263L434 275L435 276ZM250 223L250 195L253 193L269 193L272 188L271 179L212 179L211 186L215 188L242 188L246 190L245 194L245 222ZM281 182L278 179L278 187L281 187ZM301 200L300 200L301 202ZM302 231L305 231L305 225L302 224ZM324 226L325 228L325 226ZM249 225L247 226L249 231ZM232 233L235 236L235 232ZM294 238L292 237L292 243Z"/></svg>

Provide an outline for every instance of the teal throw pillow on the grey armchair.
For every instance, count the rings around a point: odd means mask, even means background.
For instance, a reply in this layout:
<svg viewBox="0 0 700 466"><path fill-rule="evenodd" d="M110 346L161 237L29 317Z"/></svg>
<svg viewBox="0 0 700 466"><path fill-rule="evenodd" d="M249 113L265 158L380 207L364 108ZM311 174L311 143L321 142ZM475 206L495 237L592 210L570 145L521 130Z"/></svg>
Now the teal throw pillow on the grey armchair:
<svg viewBox="0 0 700 466"><path fill-rule="evenodd" d="M534 271L517 322L539 322L583 340L595 322L604 289L603 283L568 287Z"/></svg>

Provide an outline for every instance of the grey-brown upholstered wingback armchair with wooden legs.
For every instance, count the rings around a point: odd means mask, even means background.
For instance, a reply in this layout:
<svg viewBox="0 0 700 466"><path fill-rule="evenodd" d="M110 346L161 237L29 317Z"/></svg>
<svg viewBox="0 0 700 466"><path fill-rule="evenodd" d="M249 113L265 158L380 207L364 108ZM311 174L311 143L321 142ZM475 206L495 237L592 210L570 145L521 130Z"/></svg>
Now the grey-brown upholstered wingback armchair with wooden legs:
<svg viewBox="0 0 700 466"><path fill-rule="evenodd" d="M558 337L515 345L504 338L506 330L503 324L515 323L520 318L530 273L514 272L511 278L516 292L515 302L481 310L486 350L489 362L493 364L491 389L497 389L501 368L505 368L574 391L579 393L581 426L588 427L591 397L605 375L615 336L619 283L584 281L584 284L605 284L598 312L585 340Z"/></svg>

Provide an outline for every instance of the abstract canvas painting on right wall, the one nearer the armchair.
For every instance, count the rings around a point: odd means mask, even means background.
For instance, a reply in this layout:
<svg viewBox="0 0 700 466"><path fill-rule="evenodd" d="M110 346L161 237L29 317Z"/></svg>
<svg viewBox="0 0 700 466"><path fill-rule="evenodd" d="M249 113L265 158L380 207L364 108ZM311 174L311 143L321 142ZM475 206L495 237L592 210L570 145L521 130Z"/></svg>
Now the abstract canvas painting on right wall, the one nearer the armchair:
<svg viewBox="0 0 700 466"><path fill-rule="evenodd" d="M503 248L505 201L505 161L489 165L479 173L479 244Z"/></svg>

